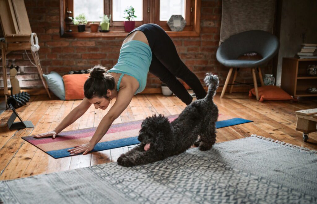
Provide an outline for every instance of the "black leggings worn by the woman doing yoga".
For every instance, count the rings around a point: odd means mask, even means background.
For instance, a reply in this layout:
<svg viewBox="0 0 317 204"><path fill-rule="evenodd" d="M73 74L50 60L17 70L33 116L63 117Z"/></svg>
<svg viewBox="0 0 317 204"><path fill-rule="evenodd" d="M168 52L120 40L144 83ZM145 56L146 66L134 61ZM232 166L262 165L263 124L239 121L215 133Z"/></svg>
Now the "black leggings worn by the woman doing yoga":
<svg viewBox="0 0 317 204"><path fill-rule="evenodd" d="M193 98L176 77L184 80L193 89L197 99L205 97L206 91L199 79L179 58L173 41L159 25L144 24L132 30L128 35L136 30L145 34L152 50L150 73L159 77L186 105L190 104Z"/></svg>

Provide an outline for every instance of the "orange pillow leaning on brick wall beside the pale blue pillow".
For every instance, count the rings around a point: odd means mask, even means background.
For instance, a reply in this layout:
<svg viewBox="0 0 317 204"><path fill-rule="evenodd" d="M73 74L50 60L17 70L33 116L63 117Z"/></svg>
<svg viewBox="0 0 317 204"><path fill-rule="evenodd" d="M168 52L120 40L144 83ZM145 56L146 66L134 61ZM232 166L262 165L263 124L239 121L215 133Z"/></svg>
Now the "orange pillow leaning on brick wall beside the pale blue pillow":
<svg viewBox="0 0 317 204"><path fill-rule="evenodd" d="M84 96L84 83L90 74L67 74L63 76L65 85L65 99L79 100Z"/></svg>

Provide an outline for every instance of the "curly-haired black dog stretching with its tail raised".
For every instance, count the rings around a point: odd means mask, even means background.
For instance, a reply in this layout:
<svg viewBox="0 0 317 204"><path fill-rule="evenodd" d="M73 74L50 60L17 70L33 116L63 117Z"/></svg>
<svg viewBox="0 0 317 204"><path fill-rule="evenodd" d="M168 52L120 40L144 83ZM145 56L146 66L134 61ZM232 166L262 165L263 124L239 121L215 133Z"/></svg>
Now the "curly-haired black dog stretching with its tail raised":
<svg viewBox="0 0 317 204"><path fill-rule="evenodd" d="M147 117L139 131L141 143L120 155L118 164L130 167L152 163L183 153L193 144L202 151L210 149L216 142L218 108L212 99L219 80L216 75L208 73L204 82L208 86L206 97L189 104L173 122L163 115ZM145 151L147 143L151 145Z"/></svg>

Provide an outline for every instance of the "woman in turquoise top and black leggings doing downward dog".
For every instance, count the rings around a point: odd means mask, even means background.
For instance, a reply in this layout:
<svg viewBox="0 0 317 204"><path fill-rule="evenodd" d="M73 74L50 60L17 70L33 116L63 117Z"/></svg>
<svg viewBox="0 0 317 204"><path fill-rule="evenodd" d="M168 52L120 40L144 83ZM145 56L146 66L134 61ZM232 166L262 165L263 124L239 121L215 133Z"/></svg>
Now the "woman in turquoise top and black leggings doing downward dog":
<svg viewBox="0 0 317 204"><path fill-rule="evenodd" d="M55 139L58 133L81 117L91 104L94 104L96 109L104 110L111 99L116 97L115 103L100 121L91 140L68 150L70 154L87 154L126 109L133 95L145 89L148 72L159 77L186 105L191 103L192 97L176 77L184 80L193 89L197 99L206 95L197 76L180 60L171 38L156 24L144 24L131 31L122 43L118 63L106 71L101 66L90 69L90 77L84 84L85 98L82 102L53 131L34 137L52 136Z"/></svg>

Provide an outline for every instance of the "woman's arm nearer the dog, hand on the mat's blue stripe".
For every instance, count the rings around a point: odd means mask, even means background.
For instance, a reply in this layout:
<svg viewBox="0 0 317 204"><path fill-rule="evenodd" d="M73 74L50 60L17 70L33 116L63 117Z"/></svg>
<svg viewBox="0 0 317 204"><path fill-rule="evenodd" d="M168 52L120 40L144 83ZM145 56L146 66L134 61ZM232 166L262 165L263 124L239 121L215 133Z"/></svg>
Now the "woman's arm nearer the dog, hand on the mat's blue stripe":
<svg viewBox="0 0 317 204"><path fill-rule="evenodd" d="M107 133L113 121L120 116L120 114L128 107L132 98L133 90L129 87L122 87L118 92L116 102L113 104L108 113L100 121L96 132L91 140L83 145L77 145L73 149L68 151L72 154L78 154L83 152L83 155L93 150L94 146L101 140L101 138Z"/></svg>

